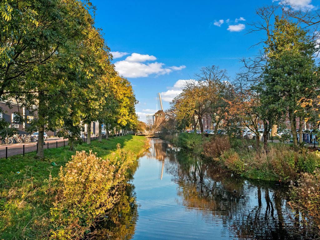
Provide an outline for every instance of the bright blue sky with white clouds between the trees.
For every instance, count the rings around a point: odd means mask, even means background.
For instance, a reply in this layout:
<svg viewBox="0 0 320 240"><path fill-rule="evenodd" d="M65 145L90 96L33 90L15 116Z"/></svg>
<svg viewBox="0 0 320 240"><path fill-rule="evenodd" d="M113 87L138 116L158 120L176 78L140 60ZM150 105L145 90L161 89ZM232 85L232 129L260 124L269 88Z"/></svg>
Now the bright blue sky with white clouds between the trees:
<svg viewBox="0 0 320 240"><path fill-rule="evenodd" d="M278 0L279 1L279 0ZM320 0L290 0L312 8ZM252 57L262 33L247 34L257 20L255 9L272 0L245 1L104 1L95 23L113 52L116 70L132 83L140 120L156 110L162 93L164 109L180 92L183 81L204 66L218 65L232 79L242 67L240 58ZM277 4L277 3L275 3Z"/></svg>

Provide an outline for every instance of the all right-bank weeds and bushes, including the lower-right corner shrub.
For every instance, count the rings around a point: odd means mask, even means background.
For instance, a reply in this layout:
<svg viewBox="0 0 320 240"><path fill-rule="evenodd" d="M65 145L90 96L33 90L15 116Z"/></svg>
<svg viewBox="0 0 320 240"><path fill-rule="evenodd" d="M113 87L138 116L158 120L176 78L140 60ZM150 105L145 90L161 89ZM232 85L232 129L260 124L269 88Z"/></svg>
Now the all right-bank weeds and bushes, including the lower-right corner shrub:
<svg viewBox="0 0 320 240"><path fill-rule="evenodd" d="M178 147L213 161L240 176L291 185L291 206L320 237L320 152L292 145L269 143L268 153L255 148L255 140L229 139L217 135L203 139L200 134L181 133L171 139ZM311 224L310 224L311 223Z"/></svg>

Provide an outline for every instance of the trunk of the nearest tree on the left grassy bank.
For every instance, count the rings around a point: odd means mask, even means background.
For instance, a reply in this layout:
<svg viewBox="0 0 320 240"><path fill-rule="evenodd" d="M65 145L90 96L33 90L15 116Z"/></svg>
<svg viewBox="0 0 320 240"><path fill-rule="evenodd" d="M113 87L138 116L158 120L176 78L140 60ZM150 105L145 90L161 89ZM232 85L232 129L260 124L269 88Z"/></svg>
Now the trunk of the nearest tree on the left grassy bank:
<svg viewBox="0 0 320 240"><path fill-rule="evenodd" d="M37 157L44 158L44 109L46 108L42 93L39 93L39 107L38 107L38 153Z"/></svg>

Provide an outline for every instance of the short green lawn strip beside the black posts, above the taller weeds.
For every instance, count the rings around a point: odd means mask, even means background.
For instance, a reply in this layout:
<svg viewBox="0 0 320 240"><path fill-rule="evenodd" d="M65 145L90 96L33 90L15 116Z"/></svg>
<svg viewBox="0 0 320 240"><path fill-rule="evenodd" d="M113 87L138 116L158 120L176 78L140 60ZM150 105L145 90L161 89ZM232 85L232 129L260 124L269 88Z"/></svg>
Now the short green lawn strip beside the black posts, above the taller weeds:
<svg viewBox="0 0 320 240"><path fill-rule="evenodd" d="M89 150L92 150L93 153L97 153L97 156L106 159L116 150L117 143L120 143L124 150L139 154L145 144L145 138L143 136L126 135L109 140L103 139L101 143L95 140L91 142L91 145L83 143L76 146L74 151L68 150L68 146L44 149L44 160L36 159L35 152L27 153L25 156L11 156L8 159L0 158L0 189L10 188L14 182L18 185L19 182L22 183L26 171L31 172L34 183L43 182L44 179L49 177L52 162L58 165L52 168L51 173L52 177L56 177L60 166L66 164L76 151L89 152ZM17 172L20 172L20 174Z"/></svg>

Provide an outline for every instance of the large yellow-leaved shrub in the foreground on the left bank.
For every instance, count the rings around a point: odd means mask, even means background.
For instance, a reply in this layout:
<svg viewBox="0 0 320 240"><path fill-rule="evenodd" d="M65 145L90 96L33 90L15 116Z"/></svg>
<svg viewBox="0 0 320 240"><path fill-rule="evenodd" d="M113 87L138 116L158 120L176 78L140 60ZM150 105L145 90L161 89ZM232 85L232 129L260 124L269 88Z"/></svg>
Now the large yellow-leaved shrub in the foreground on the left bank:
<svg viewBox="0 0 320 240"><path fill-rule="evenodd" d="M123 173L124 166L102 160L91 151L76 152L60 168L61 186L51 208L52 239L78 239L88 232L94 220L117 202Z"/></svg>

